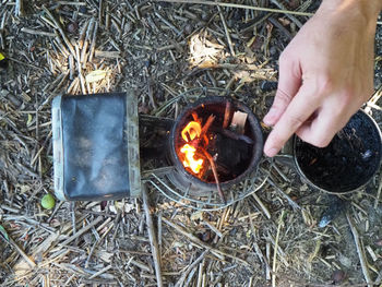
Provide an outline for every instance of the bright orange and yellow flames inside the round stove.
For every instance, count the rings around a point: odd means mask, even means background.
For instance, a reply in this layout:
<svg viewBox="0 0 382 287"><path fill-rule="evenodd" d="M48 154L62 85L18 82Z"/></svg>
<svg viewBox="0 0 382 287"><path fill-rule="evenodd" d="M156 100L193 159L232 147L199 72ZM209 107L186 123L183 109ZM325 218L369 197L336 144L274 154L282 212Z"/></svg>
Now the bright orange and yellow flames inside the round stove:
<svg viewBox="0 0 382 287"><path fill-rule="evenodd" d="M181 136L186 142L190 142L200 137L201 133L201 124L198 121L190 121L181 131ZM180 148L180 153L184 154L183 166L189 167L194 174L199 174L204 160L202 158L195 158L195 152L196 148L188 143Z"/></svg>

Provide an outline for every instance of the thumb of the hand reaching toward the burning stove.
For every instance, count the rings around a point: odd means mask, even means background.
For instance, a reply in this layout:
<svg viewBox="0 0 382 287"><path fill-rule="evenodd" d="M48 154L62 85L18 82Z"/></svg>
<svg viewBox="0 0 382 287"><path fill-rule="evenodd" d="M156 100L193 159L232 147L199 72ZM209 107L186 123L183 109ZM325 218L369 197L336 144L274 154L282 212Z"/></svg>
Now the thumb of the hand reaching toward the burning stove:
<svg viewBox="0 0 382 287"><path fill-rule="evenodd" d="M275 99L263 121L267 125L275 125L291 99L301 86L301 70L299 63L288 56L282 55L279 59L279 76Z"/></svg>

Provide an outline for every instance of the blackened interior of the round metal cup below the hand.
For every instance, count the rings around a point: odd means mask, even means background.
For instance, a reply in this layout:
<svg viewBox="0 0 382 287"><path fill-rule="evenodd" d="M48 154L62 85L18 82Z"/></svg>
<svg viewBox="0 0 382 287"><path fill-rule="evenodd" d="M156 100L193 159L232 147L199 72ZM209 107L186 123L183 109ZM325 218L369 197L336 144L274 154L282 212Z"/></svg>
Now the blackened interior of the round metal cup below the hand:
<svg viewBox="0 0 382 287"><path fill-rule="evenodd" d="M319 148L296 136L294 153L298 170L313 186L344 193L365 186L379 169L381 132L368 115L358 111L329 146Z"/></svg>

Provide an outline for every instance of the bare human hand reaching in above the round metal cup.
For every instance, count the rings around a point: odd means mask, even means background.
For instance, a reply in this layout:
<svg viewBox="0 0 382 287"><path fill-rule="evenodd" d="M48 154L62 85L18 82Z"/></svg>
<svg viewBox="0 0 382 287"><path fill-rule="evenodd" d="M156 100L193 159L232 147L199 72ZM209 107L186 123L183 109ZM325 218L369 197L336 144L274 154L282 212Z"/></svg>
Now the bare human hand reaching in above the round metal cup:
<svg viewBox="0 0 382 287"><path fill-rule="evenodd" d="M373 43L380 0L324 0L279 58L274 125L264 153L274 156L296 132L326 146L373 92Z"/></svg>

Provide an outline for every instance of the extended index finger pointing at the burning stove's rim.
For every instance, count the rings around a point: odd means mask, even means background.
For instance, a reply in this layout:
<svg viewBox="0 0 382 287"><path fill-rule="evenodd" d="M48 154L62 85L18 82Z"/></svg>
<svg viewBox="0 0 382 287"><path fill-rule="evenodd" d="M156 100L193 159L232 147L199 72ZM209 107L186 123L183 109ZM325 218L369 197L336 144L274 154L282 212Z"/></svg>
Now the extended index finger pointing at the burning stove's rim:
<svg viewBox="0 0 382 287"><path fill-rule="evenodd" d="M308 85L302 85L295 98L290 101L283 116L270 133L264 153L275 156L288 139L313 115L320 106L319 97L311 96Z"/></svg>

